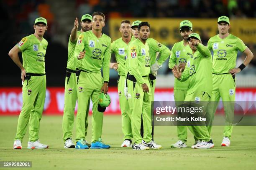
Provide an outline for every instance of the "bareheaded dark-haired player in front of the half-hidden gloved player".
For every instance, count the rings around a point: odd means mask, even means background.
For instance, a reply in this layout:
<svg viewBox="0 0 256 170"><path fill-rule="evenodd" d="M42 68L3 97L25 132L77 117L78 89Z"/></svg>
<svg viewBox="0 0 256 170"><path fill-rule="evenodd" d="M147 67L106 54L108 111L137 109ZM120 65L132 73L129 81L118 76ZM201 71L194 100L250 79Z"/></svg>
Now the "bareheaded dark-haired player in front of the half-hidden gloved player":
<svg viewBox="0 0 256 170"><path fill-rule="evenodd" d="M149 82L150 58L149 47L146 40L150 34L148 22L138 25L139 37L131 42L128 47L127 57L127 85L128 102L132 110L131 124L134 139L134 150L147 150L149 148L159 149L161 145L152 140L151 125L151 88ZM141 115L143 117L143 140L140 134Z"/></svg>

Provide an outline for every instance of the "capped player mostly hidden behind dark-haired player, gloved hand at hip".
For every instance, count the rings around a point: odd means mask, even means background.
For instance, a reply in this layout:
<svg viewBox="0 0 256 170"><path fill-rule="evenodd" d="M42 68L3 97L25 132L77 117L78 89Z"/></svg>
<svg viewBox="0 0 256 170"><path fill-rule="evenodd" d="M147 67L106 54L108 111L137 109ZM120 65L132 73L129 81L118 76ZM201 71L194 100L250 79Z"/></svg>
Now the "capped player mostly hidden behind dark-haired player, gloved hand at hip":
<svg viewBox="0 0 256 170"><path fill-rule="evenodd" d="M141 23L141 21L137 20L133 22L132 25L132 32L133 36L138 38L138 25ZM170 56L171 51L169 48L167 48L165 45L159 43L158 41L154 40L153 38L147 39L148 47L149 47L149 65L150 65L150 73L148 75L150 79L150 85L151 85L151 97L152 101L154 101L154 93L155 93L155 87L156 87L156 75L157 70L162 67L162 64L165 60ZM160 57L158 60L157 58L157 52L160 53ZM143 118L142 118L143 119ZM154 121L152 122L152 140L154 140ZM141 136L143 137L143 121L141 121Z"/></svg>

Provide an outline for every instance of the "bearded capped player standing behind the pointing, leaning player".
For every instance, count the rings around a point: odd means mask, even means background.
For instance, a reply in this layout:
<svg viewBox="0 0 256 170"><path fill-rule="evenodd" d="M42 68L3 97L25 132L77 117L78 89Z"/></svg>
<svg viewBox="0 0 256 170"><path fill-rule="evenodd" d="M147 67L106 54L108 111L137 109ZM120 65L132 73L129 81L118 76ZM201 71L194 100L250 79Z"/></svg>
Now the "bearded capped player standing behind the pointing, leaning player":
<svg viewBox="0 0 256 170"><path fill-rule="evenodd" d="M174 65L182 70L185 69L187 60L192 55L192 50L189 47L188 36L193 32L192 31L192 23L189 20L184 20L179 24L179 32L182 36L183 40L177 42L172 47L172 53L169 60L169 68L172 69ZM174 100L176 105L183 104L186 95L187 89L189 87L189 79L180 82L177 79L174 79ZM178 134L178 141L171 145L172 148L186 148L187 147L187 127L177 125L177 134ZM198 142L198 141L197 141ZM197 143L196 142L196 143Z"/></svg>

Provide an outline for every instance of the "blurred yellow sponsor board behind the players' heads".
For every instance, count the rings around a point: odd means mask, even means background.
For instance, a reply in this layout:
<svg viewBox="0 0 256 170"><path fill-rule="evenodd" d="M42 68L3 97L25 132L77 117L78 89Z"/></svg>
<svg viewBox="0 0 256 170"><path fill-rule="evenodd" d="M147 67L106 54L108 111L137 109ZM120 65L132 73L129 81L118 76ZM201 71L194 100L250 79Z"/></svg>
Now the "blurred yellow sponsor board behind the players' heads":
<svg viewBox="0 0 256 170"><path fill-rule="evenodd" d="M193 24L193 31L198 33L203 43L207 43L210 37L218 34L217 19L198 19L198 18L119 18L110 19L110 37L112 41L120 38L119 32L121 20L147 21L151 25L150 37L162 44L172 45L181 41L179 33L179 23L182 20L189 20ZM256 19L237 19L230 20L231 34L239 37L245 43L256 43ZM205 41L205 42L204 42Z"/></svg>

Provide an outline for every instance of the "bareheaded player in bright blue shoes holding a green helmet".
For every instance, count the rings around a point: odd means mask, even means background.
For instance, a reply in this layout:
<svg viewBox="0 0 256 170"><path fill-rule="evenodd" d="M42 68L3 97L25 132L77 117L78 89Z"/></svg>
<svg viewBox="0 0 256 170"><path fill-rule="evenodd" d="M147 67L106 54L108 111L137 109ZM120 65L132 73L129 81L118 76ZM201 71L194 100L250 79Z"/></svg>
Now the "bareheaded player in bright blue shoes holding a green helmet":
<svg viewBox="0 0 256 170"><path fill-rule="evenodd" d="M103 112L106 107L98 105L100 94L108 92L111 39L102 33L105 15L101 12L92 14L92 30L82 32L78 37L74 57L77 60L77 149L88 149L85 143L86 111L92 99L92 145L91 149L110 148L101 141ZM103 77L101 76L101 68Z"/></svg>

